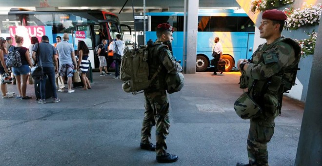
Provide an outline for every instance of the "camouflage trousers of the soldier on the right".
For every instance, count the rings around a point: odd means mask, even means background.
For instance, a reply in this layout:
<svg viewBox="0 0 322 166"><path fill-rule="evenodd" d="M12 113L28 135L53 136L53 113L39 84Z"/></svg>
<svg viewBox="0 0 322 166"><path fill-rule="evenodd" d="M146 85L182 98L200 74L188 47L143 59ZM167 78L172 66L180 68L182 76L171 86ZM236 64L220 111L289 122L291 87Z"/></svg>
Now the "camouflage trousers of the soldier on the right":
<svg viewBox="0 0 322 166"><path fill-rule="evenodd" d="M268 166L267 143L274 134L274 125L264 126L262 124L260 120L250 120L247 151L251 166Z"/></svg>

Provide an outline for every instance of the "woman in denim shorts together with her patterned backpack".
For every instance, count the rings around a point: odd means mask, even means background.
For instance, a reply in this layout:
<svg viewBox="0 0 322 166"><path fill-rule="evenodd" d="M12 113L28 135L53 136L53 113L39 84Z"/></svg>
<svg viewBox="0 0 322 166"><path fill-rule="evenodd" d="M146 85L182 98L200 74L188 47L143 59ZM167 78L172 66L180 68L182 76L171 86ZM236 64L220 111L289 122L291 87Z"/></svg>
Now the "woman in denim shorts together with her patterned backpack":
<svg viewBox="0 0 322 166"><path fill-rule="evenodd" d="M16 45L13 50L8 54L6 61L7 66L10 66L16 78L17 89L19 95L16 99L31 99L32 97L26 96L27 80L30 72L30 67L33 66L29 50L23 47L23 37L15 35Z"/></svg>

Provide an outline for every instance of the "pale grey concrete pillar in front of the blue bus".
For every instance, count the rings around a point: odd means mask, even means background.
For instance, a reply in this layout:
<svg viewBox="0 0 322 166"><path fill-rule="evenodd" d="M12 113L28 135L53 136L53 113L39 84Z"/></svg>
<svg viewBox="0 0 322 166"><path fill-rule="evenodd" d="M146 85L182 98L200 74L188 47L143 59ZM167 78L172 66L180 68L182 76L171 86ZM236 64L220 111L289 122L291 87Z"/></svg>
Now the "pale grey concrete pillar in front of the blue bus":
<svg viewBox="0 0 322 166"><path fill-rule="evenodd" d="M186 74L196 73L198 9L199 0L184 0L185 26L182 66Z"/></svg>

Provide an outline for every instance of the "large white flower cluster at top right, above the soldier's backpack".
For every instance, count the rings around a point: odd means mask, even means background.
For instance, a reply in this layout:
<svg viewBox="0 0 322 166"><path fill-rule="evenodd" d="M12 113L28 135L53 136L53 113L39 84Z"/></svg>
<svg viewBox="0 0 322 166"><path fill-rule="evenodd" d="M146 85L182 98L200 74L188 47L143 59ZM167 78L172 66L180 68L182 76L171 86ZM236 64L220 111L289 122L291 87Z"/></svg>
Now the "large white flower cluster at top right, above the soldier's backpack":
<svg viewBox="0 0 322 166"><path fill-rule="evenodd" d="M285 8L283 10L287 15L287 27L290 30L296 30L302 26L314 26L320 23L322 5L307 5L304 2L304 8L293 9Z"/></svg>

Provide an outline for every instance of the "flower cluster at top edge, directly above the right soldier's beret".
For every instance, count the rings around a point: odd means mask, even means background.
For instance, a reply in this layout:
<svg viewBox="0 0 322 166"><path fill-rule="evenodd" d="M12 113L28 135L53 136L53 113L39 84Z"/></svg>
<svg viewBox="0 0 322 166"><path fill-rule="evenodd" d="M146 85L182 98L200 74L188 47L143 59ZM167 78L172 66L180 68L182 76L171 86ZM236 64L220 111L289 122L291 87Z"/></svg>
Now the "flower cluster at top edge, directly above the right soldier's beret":
<svg viewBox="0 0 322 166"><path fill-rule="evenodd" d="M250 11L255 13L255 11L265 11L267 9L276 8L282 5L287 5L293 3L294 0L252 0Z"/></svg>

